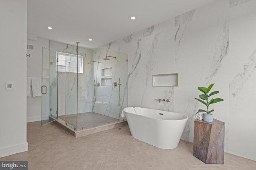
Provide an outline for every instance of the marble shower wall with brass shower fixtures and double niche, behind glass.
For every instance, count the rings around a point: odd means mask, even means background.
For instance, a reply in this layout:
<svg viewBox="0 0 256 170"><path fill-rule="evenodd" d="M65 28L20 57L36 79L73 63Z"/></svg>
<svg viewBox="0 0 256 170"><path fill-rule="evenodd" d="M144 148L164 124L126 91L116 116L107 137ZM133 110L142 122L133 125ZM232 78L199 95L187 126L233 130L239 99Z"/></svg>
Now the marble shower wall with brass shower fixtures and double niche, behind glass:
<svg viewBox="0 0 256 170"><path fill-rule="evenodd" d="M106 55L109 60L103 60ZM113 58L116 57L116 58ZM93 55L93 60L99 61L93 68L93 75L96 83L100 83L100 86L96 86L95 90L95 102L93 104L92 111L113 117L116 119L122 119L120 114L124 107L127 107L127 54L120 53L118 51L108 49L96 49ZM110 71L111 67L111 71ZM102 68L108 68L106 75L102 75ZM120 106L119 105L119 85L114 86L114 82L119 84L120 78ZM103 84L102 84L103 83Z"/></svg>

